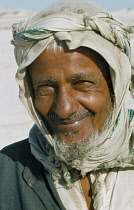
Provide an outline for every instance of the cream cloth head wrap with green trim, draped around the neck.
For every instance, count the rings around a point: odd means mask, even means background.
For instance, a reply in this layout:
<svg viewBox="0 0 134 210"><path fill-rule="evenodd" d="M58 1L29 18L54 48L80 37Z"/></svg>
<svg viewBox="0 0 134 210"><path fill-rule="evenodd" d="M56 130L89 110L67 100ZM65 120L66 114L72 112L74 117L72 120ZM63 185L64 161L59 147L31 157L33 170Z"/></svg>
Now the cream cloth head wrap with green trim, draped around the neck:
<svg viewBox="0 0 134 210"><path fill-rule="evenodd" d="M128 28L92 2L63 0L14 24L13 37L19 66L16 79L20 99L37 126L30 132L31 150L53 178L62 174L70 186L67 166L55 155L52 137L34 108L26 68L54 39L64 40L70 50L80 46L93 49L110 68L115 94L111 124L98 140L94 153L84 160L82 174L100 168L133 166L134 103L130 90L132 70ZM76 166L77 161L74 162Z"/></svg>

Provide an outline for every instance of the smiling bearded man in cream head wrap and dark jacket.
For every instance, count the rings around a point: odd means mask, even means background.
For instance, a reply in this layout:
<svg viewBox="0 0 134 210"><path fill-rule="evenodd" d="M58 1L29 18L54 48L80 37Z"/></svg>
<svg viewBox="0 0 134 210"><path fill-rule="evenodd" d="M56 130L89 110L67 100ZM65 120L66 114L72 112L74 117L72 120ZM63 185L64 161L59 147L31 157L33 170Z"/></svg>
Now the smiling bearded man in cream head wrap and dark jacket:
<svg viewBox="0 0 134 210"><path fill-rule="evenodd" d="M134 206L129 32L88 1L13 26L20 98L35 125L1 151L0 209Z"/></svg>

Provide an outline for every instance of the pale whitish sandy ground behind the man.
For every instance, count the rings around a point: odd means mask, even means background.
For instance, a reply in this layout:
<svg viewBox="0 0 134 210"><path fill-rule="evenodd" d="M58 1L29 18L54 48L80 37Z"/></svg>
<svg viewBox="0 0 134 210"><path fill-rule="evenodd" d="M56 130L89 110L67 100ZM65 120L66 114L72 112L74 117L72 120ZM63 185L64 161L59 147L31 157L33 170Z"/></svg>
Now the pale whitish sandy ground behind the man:
<svg viewBox="0 0 134 210"><path fill-rule="evenodd" d="M134 10L111 12L128 25L134 25ZM0 9L0 148L28 136L33 122L18 98L15 81L17 65L13 55L11 25L31 16L24 10ZM134 35L131 36L132 58L134 57Z"/></svg>

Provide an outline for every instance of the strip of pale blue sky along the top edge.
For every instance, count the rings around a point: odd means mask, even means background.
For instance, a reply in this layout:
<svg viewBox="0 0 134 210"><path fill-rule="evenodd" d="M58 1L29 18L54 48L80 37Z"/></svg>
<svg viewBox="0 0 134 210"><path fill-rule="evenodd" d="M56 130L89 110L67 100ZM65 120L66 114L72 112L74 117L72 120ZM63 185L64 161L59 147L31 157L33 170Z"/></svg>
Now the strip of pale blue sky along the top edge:
<svg viewBox="0 0 134 210"><path fill-rule="evenodd" d="M134 0L92 0L107 10L134 9ZM57 0L0 0L0 8L39 11Z"/></svg>

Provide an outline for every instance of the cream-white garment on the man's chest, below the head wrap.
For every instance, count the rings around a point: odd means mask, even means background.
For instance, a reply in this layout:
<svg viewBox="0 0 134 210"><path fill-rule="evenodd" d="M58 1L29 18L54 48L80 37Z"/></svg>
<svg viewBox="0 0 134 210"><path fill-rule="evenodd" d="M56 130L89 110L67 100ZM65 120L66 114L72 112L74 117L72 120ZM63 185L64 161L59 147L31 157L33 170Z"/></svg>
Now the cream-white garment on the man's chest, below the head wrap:
<svg viewBox="0 0 134 210"><path fill-rule="evenodd" d="M90 173L94 210L134 209L134 168L115 168L103 173ZM88 210L80 181L67 190L55 183L66 210Z"/></svg>

